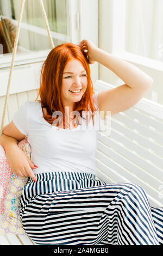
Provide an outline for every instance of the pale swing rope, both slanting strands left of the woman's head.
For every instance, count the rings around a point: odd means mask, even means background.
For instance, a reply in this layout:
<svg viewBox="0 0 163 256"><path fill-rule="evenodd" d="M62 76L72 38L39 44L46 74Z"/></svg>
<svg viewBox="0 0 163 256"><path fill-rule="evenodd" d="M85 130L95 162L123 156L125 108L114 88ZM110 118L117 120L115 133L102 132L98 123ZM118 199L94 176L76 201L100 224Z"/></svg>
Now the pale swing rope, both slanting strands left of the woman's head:
<svg viewBox="0 0 163 256"><path fill-rule="evenodd" d="M19 38L19 34L20 34L20 26L21 26L21 22L22 22L22 16L23 16L23 10L24 10L25 2L26 2L26 0L22 0L22 2L21 2L20 14L19 14L19 17L18 17L18 25L17 25L17 29L16 29L14 49L13 49L13 53L12 53L11 68L10 68L10 74L9 74L9 80L8 80L8 86L7 86L7 94L5 95L5 102L4 102L4 109L3 109L3 115L2 115L0 136L2 135L5 112L6 112L7 104L8 104L9 90L10 90L11 77L12 77L12 70L14 68L14 63L15 63L15 56L16 56L16 51L17 51L18 38ZM49 25L48 25L48 19L47 19L46 11L45 11L42 0L39 0L39 2L40 2L41 10L42 10L43 19L44 19L45 24L46 24L46 29L47 29L47 32L48 32L49 41L51 42L52 48L54 48L54 43L53 43L50 28L49 28Z"/></svg>

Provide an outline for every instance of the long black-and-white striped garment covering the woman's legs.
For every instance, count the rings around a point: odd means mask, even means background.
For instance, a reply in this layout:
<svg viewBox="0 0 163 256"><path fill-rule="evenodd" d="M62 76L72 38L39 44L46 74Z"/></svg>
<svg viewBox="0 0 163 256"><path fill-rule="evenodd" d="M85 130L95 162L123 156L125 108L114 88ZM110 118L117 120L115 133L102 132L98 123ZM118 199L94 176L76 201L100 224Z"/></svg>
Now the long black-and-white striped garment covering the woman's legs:
<svg viewBox="0 0 163 256"><path fill-rule="evenodd" d="M88 173L36 176L20 200L23 228L36 245L163 244L163 208L150 207L142 187Z"/></svg>

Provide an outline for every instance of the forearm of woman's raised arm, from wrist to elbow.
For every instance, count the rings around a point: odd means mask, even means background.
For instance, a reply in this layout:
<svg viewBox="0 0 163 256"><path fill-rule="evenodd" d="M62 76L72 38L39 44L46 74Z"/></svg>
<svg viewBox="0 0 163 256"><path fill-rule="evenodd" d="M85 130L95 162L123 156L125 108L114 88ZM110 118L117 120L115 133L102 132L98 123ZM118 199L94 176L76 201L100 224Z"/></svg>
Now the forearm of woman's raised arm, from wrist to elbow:
<svg viewBox="0 0 163 256"><path fill-rule="evenodd" d="M130 88L148 88L153 85L153 79L135 65L100 48L94 52L93 59L114 72Z"/></svg>

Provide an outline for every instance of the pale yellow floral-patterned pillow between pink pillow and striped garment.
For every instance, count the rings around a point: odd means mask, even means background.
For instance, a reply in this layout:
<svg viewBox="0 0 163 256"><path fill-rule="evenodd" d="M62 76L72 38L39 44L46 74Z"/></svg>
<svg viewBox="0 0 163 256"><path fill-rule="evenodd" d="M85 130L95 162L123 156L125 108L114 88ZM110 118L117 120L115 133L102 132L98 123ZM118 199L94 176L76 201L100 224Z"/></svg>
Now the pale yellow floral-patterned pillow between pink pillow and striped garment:
<svg viewBox="0 0 163 256"><path fill-rule="evenodd" d="M25 143L25 145L24 145ZM22 148L24 153L30 159L31 150L30 145L24 139L18 143L18 146ZM26 185L28 177L24 176L21 178L15 173L11 173L10 180L8 182L7 191L5 193L4 199L4 213L0 220L0 234L25 234L21 220L20 220L20 197L22 194L22 189Z"/></svg>

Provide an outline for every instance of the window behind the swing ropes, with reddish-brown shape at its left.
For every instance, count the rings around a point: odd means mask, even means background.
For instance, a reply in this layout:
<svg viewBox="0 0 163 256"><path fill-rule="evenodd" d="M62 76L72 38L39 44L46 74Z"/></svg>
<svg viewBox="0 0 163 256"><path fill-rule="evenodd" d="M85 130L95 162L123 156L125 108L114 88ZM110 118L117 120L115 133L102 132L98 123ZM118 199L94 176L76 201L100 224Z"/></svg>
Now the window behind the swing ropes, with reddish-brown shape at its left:
<svg viewBox="0 0 163 256"><path fill-rule="evenodd" d="M8 66L7 63L11 63L21 2L21 0L0 0L1 51L3 47L3 65L1 64L1 68ZM71 41L69 3L70 1L67 0L43 0L54 46ZM39 0L26 0L16 60L21 60L22 62L24 59L24 62L27 63L27 59L35 57L35 59L38 58L40 61L40 57L46 56L49 50L51 50L51 44L49 42L40 2ZM31 61L32 60L29 62Z"/></svg>

